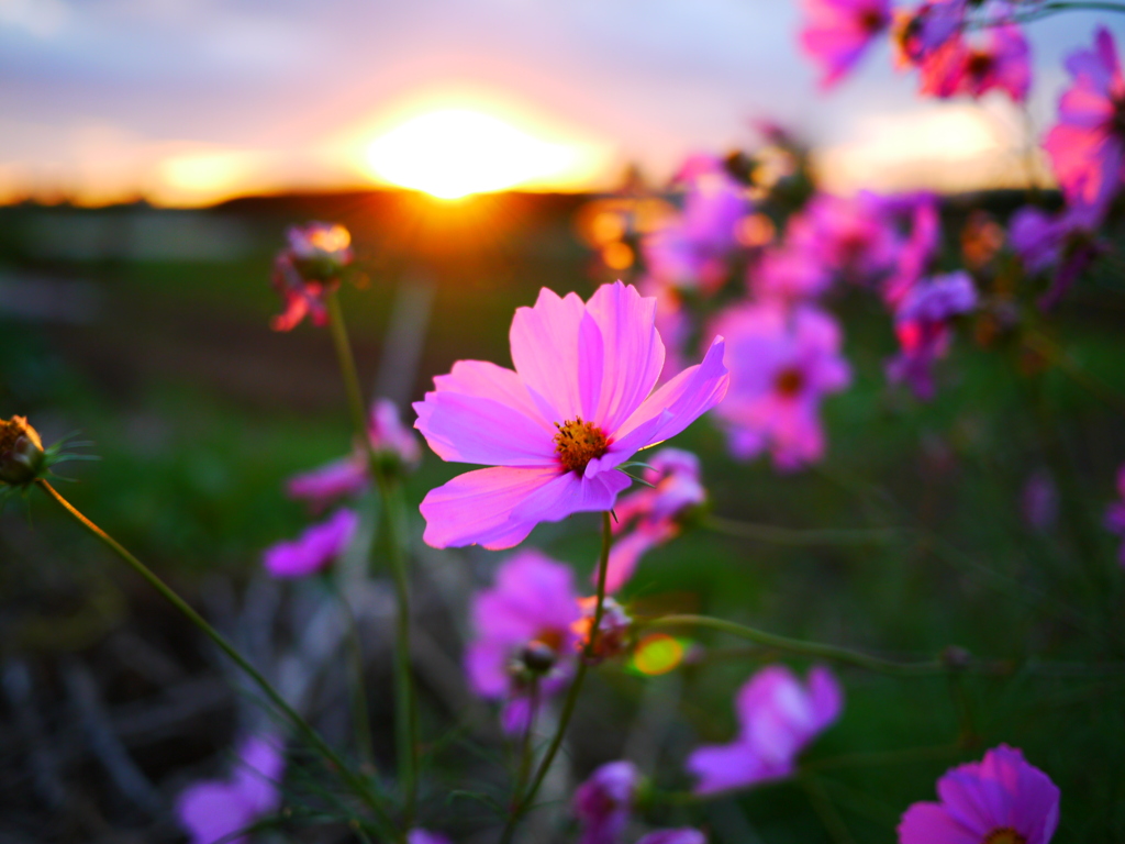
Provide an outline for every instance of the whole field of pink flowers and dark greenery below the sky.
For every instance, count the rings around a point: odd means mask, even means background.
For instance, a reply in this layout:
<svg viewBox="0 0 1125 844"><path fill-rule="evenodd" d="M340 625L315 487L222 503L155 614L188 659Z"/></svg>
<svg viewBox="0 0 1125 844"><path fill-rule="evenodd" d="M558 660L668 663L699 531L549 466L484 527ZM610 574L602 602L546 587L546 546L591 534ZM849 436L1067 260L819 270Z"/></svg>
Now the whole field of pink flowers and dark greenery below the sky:
<svg viewBox="0 0 1125 844"><path fill-rule="evenodd" d="M801 37L1022 102L1066 7ZM1091 38L1059 190L835 196L762 125L613 195L0 209L0 838L1125 838Z"/></svg>

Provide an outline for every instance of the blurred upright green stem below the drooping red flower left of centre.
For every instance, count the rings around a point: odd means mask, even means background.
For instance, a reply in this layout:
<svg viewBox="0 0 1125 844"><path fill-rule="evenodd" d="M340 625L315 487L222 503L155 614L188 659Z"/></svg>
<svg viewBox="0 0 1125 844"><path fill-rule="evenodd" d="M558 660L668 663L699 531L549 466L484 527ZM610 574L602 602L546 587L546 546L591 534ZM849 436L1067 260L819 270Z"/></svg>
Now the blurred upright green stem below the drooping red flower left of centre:
<svg viewBox="0 0 1125 844"><path fill-rule="evenodd" d="M395 583L397 604L397 621L395 635L395 747L398 756L398 778L403 789L403 826L410 828L414 820L414 809L417 799L418 771L418 730L417 711L414 695L414 675L411 671L411 604L410 585L406 574L405 521L406 508L403 502L402 486L396 479L384 472L379 456L371 447L368 436L367 413L364 411L363 389L359 384L356 358L352 354L351 342L348 339L348 327L344 324L343 309L340 307L339 293L333 290L327 296L328 329L343 376L344 389L348 393L348 406L351 411L356 437L367 455L368 466L375 477L379 496L382 499L382 511L386 514L387 545L390 549L390 569Z"/></svg>

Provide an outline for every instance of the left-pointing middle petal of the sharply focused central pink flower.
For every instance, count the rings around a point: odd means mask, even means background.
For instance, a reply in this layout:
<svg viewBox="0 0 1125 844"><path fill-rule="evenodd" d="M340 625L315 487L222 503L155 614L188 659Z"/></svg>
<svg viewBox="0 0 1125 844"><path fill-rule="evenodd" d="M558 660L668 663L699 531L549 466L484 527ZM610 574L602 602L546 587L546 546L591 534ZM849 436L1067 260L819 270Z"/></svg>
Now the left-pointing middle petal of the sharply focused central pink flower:
<svg viewBox="0 0 1125 844"><path fill-rule="evenodd" d="M440 390L415 404L415 427L443 460L500 466L556 466L551 433L494 398Z"/></svg>

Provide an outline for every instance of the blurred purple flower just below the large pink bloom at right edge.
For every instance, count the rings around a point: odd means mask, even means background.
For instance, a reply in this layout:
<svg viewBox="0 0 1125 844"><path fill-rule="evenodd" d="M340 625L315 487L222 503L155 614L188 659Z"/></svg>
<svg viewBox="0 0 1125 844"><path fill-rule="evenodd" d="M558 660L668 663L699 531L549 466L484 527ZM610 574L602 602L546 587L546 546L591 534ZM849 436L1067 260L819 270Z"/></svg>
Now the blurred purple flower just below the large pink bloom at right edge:
<svg viewBox="0 0 1125 844"><path fill-rule="evenodd" d="M1054 269L1051 287L1040 298L1040 307L1054 307L1079 276L1104 250L1098 239L1105 208L1097 205L1068 205L1055 216L1032 206L1011 217L1008 240L1012 250L1032 273Z"/></svg>

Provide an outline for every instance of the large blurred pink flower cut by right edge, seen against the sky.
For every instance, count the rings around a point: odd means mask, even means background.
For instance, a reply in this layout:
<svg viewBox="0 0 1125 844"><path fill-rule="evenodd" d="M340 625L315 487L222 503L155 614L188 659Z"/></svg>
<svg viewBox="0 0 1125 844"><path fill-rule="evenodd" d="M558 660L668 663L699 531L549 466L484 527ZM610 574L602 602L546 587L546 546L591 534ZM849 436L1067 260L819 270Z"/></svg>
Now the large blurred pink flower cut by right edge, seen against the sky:
<svg viewBox="0 0 1125 844"><path fill-rule="evenodd" d="M1071 53L1066 70L1074 83L1059 100L1059 123L1043 146L1066 200L1105 208L1125 159L1125 79L1109 30L1098 28L1094 50Z"/></svg>

